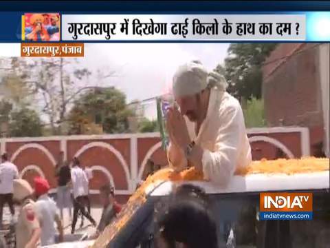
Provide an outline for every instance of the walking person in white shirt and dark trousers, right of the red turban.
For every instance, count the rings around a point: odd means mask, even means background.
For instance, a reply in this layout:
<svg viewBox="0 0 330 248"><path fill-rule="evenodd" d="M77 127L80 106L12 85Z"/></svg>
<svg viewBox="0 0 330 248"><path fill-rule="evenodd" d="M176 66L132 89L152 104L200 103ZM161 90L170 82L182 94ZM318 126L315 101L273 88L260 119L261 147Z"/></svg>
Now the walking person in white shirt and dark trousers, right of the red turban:
<svg viewBox="0 0 330 248"><path fill-rule="evenodd" d="M73 167L71 170L71 181L72 181L72 188L74 192L74 220L72 221L72 229L71 233L74 234L77 218L78 218L78 211L83 214L93 225L96 227L96 221L91 215L85 211L85 205L87 205L85 196L88 195L88 178L86 173L83 169L79 166L79 161L77 158L73 160Z"/></svg>

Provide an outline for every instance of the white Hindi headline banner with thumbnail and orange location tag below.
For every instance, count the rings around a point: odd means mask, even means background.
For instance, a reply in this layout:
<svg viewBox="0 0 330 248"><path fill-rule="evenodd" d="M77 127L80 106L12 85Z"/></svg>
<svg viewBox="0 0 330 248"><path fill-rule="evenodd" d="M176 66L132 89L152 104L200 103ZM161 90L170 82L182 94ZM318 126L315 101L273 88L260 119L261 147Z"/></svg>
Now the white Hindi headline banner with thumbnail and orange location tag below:
<svg viewBox="0 0 330 248"><path fill-rule="evenodd" d="M20 17L21 56L84 56L87 42L327 42L330 12L61 14ZM4 42L4 41L3 41Z"/></svg>

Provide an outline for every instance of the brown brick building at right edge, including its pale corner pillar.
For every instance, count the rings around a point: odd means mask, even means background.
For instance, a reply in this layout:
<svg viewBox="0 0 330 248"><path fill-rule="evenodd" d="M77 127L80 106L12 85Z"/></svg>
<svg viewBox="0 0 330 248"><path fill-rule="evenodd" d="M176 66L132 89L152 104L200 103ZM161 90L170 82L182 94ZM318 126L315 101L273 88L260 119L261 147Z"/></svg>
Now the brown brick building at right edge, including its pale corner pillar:
<svg viewBox="0 0 330 248"><path fill-rule="evenodd" d="M329 156L329 57L329 43L281 43L263 66L267 124L308 127L314 156Z"/></svg>

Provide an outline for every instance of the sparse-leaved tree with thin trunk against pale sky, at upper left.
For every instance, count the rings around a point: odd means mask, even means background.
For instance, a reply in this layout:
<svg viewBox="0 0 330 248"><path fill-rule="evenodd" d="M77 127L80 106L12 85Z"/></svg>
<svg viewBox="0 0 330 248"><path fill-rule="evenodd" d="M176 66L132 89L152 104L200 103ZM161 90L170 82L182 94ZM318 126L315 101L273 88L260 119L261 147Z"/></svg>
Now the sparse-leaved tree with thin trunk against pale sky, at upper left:
<svg viewBox="0 0 330 248"><path fill-rule="evenodd" d="M8 66L3 79L8 98L17 103L32 99L34 107L48 117L52 134L61 134L65 115L75 96L88 88L91 72L76 59L10 58L2 62ZM24 107L26 101L20 105Z"/></svg>

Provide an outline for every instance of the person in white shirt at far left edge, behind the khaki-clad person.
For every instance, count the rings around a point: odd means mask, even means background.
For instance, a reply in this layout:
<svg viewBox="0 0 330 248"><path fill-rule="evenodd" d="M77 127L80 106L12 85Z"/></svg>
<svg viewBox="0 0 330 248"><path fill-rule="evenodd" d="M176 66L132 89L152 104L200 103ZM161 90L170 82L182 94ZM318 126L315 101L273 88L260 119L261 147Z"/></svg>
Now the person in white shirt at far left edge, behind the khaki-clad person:
<svg viewBox="0 0 330 248"><path fill-rule="evenodd" d="M10 214L14 216L15 209L12 202L13 181L19 178L19 171L16 165L8 161L8 155L1 155L0 164L0 225L2 225L3 206L8 203Z"/></svg>

